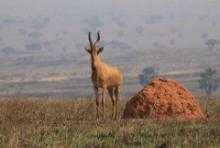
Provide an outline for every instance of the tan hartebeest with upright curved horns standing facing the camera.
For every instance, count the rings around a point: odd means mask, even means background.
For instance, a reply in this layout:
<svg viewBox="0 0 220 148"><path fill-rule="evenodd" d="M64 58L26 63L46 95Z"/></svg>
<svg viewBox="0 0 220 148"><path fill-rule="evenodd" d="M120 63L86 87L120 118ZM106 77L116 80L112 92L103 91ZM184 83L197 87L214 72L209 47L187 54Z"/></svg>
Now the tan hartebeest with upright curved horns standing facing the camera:
<svg viewBox="0 0 220 148"><path fill-rule="evenodd" d="M120 86L123 81L122 72L113 66L102 62L99 54L103 47L99 46L100 33L97 32L97 40L93 43L91 33L88 34L90 48L86 51L91 55L91 80L96 96L96 118L99 119L99 88L102 89L102 117L105 116L105 96L108 91L112 100L112 119L117 119Z"/></svg>

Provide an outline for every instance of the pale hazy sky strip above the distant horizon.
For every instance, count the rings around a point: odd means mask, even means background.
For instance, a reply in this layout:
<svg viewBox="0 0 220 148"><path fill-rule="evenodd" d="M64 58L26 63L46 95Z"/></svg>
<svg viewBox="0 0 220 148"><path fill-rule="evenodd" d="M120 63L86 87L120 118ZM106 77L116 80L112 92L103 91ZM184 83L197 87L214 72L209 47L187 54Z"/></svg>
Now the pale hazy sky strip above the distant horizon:
<svg viewBox="0 0 220 148"><path fill-rule="evenodd" d="M143 14L220 14L219 0L0 0L0 15L52 15L120 13Z"/></svg>

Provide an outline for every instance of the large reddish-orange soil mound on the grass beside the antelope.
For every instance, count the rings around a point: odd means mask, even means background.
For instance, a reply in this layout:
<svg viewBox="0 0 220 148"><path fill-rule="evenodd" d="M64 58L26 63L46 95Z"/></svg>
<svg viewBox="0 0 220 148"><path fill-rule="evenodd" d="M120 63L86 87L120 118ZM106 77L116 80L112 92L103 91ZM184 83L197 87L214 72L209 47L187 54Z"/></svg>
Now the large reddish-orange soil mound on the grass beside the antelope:
<svg viewBox="0 0 220 148"><path fill-rule="evenodd" d="M205 119L198 101L182 85L169 78L159 78L145 86L127 104L124 118L166 120Z"/></svg>

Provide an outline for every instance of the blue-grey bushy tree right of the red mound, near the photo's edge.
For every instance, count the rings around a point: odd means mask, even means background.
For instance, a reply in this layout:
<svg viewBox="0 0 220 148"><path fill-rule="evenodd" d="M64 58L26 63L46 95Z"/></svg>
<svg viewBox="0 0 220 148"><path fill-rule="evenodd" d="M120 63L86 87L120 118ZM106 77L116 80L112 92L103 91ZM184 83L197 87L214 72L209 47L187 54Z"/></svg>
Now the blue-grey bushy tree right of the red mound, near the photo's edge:
<svg viewBox="0 0 220 148"><path fill-rule="evenodd" d="M208 68L200 74L199 88L205 90L205 93L210 97L213 91L216 91L219 86L220 79L216 69Z"/></svg>

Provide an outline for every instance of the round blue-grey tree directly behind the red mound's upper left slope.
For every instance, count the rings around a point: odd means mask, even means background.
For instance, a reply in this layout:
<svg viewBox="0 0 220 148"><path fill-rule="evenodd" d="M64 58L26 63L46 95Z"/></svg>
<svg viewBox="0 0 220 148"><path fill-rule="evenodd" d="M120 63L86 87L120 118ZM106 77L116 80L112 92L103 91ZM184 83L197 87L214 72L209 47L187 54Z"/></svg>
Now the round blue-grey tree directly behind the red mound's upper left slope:
<svg viewBox="0 0 220 148"><path fill-rule="evenodd" d="M142 73L139 74L139 82L141 85L149 84L153 79L158 76L158 73L154 67L146 67Z"/></svg>

